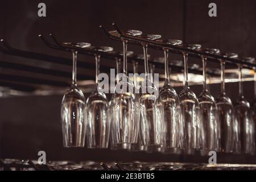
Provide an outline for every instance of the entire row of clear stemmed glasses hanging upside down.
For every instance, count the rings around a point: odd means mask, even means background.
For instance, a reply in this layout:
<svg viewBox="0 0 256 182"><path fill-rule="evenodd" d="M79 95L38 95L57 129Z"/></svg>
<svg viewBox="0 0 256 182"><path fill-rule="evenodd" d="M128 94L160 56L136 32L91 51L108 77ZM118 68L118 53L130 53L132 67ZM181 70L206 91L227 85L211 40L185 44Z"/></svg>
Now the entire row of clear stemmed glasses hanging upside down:
<svg viewBox="0 0 256 182"><path fill-rule="evenodd" d="M139 42L143 48L146 81L138 82L136 75L129 79L127 72L128 40L117 31L109 34L123 43L123 76L121 59L115 59L117 82L112 99L108 101L98 85L100 54L96 54L96 89L85 100L76 84L76 57L73 54L72 85L65 93L61 104L61 124L64 147L112 148L131 151L160 151L178 153L181 150L228 152L251 154L255 152L256 104L250 107L243 97L242 65L238 64L239 97L233 106L225 93L225 60L221 65L221 93L216 99L207 85L207 56L200 55L203 62L203 91L197 98L188 85L188 52L181 52L184 61L184 88L177 94L172 88L169 73L168 51L164 52L164 85L160 90L154 85L154 77L148 69L148 44ZM143 35L138 30L128 30L127 35L155 40L224 57L236 58L236 53L220 53L215 48L201 48L199 44L183 44L181 40L160 39L160 35ZM74 47L94 49L100 52L113 51L111 47L93 47L89 43L64 43ZM246 57L244 61L254 61ZM151 65L151 73L154 66ZM138 62L133 61L133 72L138 73ZM256 84L255 84L256 85ZM117 92L117 89L119 92ZM154 90L159 93L157 97ZM132 91L130 91L132 90ZM146 90L146 92L142 92ZM255 88L256 90L256 88ZM136 92L137 91L137 92ZM256 91L255 91L256 92ZM256 96L256 93L255 93ZM86 136L85 136L86 135Z"/></svg>

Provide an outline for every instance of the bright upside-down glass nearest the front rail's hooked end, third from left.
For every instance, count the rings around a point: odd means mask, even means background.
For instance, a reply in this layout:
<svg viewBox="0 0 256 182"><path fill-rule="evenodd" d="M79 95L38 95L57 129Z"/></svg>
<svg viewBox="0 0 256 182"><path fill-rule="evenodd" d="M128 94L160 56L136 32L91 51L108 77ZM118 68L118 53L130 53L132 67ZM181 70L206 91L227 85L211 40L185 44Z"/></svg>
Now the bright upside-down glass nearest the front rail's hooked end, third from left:
<svg viewBox="0 0 256 182"><path fill-rule="evenodd" d="M140 35L141 31L128 31L129 35ZM127 77L127 40L123 42L123 75L115 86L113 96L113 127L117 146L121 148L137 143L138 139L138 103L135 99L135 87ZM126 147L125 147L126 148Z"/></svg>

